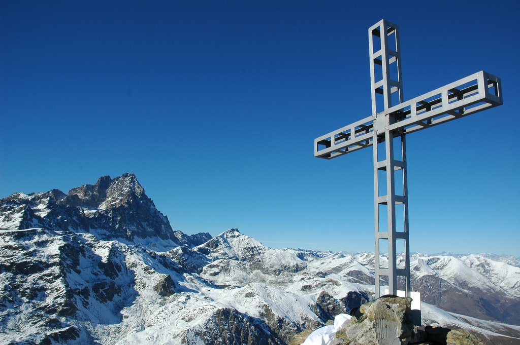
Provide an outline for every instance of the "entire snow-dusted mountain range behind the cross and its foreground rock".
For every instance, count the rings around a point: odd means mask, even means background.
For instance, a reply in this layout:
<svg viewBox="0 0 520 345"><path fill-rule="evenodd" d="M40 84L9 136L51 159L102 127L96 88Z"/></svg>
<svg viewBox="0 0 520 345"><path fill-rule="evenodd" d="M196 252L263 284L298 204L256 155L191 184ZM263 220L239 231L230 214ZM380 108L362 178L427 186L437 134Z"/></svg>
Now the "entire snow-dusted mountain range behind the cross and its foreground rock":
<svg viewBox="0 0 520 345"><path fill-rule="evenodd" d="M414 254L423 321L519 343L519 263ZM0 200L0 343L285 344L370 299L373 264L174 231L133 174L20 192Z"/></svg>

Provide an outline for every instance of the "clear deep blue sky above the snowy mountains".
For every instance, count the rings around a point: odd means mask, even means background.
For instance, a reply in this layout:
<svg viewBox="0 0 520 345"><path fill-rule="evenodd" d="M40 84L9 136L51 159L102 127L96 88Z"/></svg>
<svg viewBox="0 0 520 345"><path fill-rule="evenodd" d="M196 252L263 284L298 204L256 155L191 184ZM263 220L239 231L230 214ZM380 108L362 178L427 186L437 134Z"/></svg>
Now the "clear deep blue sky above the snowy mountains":
<svg viewBox="0 0 520 345"><path fill-rule="evenodd" d="M392 4L396 4L392 6ZM134 172L174 229L373 251L369 26L399 25L405 99L486 70L504 105L410 134L414 252L520 255L520 5L0 2L0 197Z"/></svg>

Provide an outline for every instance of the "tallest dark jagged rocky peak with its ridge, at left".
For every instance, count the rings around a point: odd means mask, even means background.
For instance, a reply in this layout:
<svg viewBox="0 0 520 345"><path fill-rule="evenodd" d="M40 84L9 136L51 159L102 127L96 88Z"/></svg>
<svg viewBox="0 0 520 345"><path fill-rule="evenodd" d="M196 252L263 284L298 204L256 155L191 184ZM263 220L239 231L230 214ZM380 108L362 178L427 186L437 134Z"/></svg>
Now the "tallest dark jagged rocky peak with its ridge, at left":
<svg viewBox="0 0 520 345"><path fill-rule="evenodd" d="M9 229L70 229L93 232L103 240L128 242L157 238L166 249L193 247L211 239L209 233L174 232L135 175L128 173L115 178L102 176L96 184L73 188L67 195L58 189L28 196L15 193L0 200L0 215Z"/></svg>

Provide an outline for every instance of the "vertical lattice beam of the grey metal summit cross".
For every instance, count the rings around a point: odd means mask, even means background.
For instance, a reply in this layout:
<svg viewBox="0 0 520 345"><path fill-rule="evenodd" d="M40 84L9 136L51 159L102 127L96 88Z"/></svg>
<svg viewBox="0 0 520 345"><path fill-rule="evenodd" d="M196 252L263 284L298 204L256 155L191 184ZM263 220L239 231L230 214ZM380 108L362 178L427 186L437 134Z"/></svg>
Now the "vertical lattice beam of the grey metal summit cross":
<svg viewBox="0 0 520 345"><path fill-rule="evenodd" d="M388 113L388 109L402 102L401 54L397 25L381 20L368 29L370 45L370 81L372 92L372 116L374 120L374 272L375 297L380 296L381 277L387 277L388 292L397 295L397 277L405 279L404 289L410 297L410 256L408 243L408 195L406 179L406 141L404 133L390 131L400 113ZM396 147L394 147L394 145ZM382 147L381 147L382 146ZM395 149L399 159L395 158ZM396 171L402 178L396 181ZM383 175L383 176L380 176ZM382 178L383 177L383 178ZM401 184L400 195L396 183ZM386 190L381 190L386 186ZM403 225L397 229L396 206L402 209ZM386 211L381 213L381 211ZM382 222L380 217L386 217ZM397 244L401 244L397 246ZM397 250L402 248L405 262L397 262ZM381 253L388 253L388 261Z"/></svg>

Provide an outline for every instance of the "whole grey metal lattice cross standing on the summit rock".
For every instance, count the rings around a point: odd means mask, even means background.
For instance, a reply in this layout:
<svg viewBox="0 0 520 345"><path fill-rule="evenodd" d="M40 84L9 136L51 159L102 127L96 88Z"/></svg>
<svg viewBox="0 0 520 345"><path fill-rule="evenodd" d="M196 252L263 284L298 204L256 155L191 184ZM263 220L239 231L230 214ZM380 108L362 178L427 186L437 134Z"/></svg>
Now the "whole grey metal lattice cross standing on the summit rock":
<svg viewBox="0 0 520 345"><path fill-rule="evenodd" d="M373 147L375 296L380 296L380 277L386 276L393 295L397 295L397 277L404 277L410 297L405 135L501 105L501 81L480 71L403 102L397 25L383 19L368 29L368 37L372 116L316 138L314 156L332 159ZM396 210L402 216L399 226ZM396 243L404 250L404 262L397 261ZM388 262L380 257L380 248L386 246Z"/></svg>

